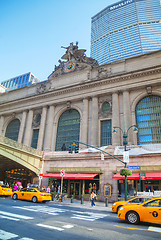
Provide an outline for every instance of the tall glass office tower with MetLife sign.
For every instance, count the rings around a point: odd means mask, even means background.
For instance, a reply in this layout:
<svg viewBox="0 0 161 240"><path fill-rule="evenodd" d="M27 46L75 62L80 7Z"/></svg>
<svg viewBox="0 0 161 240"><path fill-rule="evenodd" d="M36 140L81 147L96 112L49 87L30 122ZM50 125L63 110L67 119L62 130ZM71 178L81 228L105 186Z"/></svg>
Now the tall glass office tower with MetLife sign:
<svg viewBox="0 0 161 240"><path fill-rule="evenodd" d="M91 57L99 64L161 49L161 1L124 0L92 17Z"/></svg>

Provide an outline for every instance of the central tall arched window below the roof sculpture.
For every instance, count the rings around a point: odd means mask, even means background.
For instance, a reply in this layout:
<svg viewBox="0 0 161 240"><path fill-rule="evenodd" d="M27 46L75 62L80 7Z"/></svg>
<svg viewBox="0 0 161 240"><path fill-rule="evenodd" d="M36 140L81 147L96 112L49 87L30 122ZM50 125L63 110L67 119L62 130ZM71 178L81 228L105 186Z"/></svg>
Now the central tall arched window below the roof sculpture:
<svg viewBox="0 0 161 240"><path fill-rule="evenodd" d="M75 109L65 111L59 118L55 150L62 151L63 144L68 149L73 140L79 141L79 132L79 112Z"/></svg>

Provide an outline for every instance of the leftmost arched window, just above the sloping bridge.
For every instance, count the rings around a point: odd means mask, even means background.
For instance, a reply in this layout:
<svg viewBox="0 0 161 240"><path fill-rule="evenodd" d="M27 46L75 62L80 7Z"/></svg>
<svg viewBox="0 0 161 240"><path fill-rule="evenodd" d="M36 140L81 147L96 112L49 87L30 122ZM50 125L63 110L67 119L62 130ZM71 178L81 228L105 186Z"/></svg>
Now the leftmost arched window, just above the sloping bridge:
<svg viewBox="0 0 161 240"><path fill-rule="evenodd" d="M20 121L18 119L12 120L7 126L5 137L8 137L14 141L17 141L19 129L20 129Z"/></svg>

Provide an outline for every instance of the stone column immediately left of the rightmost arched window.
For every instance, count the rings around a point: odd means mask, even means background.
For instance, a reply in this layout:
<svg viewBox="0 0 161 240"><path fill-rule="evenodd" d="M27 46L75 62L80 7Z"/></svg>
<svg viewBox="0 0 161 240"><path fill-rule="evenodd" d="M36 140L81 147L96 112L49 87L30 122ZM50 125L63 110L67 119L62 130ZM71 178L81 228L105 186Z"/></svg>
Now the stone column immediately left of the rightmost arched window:
<svg viewBox="0 0 161 240"><path fill-rule="evenodd" d="M124 113L124 130L132 125L131 111L130 111L130 95L126 90L123 92L123 113ZM133 129L130 129L128 132L128 144L132 144Z"/></svg>

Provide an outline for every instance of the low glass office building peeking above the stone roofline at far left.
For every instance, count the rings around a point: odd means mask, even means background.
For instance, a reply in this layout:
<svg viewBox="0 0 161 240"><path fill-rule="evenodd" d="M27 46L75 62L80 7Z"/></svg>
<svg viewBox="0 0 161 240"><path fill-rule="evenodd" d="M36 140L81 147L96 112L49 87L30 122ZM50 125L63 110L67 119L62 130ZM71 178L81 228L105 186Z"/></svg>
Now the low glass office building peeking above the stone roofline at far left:
<svg viewBox="0 0 161 240"><path fill-rule="evenodd" d="M23 75L11 78L9 80L1 82L2 86L7 88L7 91L14 90L17 88L25 87L33 83L40 82L40 80L34 76L33 73L25 73Z"/></svg>

